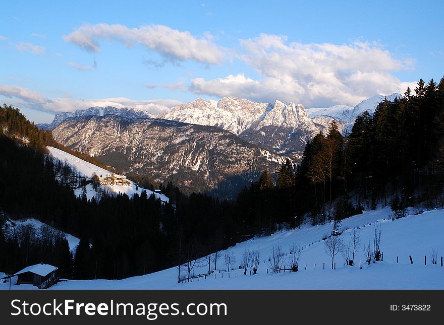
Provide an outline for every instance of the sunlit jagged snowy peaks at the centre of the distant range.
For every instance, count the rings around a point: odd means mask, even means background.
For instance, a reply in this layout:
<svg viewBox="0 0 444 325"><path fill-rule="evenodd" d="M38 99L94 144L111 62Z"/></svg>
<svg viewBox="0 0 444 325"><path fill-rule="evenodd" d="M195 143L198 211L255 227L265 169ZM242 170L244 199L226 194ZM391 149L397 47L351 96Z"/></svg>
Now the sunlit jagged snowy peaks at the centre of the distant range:
<svg viewBox="0 0 444 325"><path fill-rule="evenodd" d="M258 103L244 98L224 97L219 101L197 99L173 107L157 118L216 126L240 138L274 151L294 156L319 128L294 103Z"/></svg>

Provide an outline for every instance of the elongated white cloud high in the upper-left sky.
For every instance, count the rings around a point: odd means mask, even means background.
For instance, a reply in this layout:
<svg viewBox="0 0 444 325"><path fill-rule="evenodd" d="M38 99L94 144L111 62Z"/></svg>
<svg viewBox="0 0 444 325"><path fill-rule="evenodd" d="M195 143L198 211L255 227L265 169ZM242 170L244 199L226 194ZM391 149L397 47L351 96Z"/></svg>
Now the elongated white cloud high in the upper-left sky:
<svg viewBox="0 0 444 325"><path fill-rule="evenodd" d="M196 38L188 31L181 32L163 25L128 28L124 25L103 23L85 24L63 39L89 52L98 52L99 42L109 40L123 43L127 47L138 43L175 60L218 63L224 59L223 52L214 45L210 34L206 33L203 38Z"/></svg>

